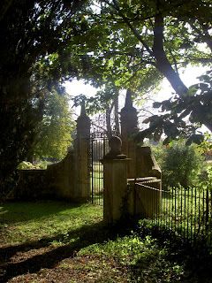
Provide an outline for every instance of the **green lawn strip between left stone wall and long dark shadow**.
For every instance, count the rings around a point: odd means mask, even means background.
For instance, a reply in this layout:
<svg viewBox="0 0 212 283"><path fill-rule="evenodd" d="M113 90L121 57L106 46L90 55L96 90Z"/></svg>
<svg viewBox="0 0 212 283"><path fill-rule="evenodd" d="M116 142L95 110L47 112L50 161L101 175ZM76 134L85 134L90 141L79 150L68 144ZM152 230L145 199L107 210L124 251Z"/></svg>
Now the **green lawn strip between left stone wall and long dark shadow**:
<svg viewBox="0 0 212 283"><path fill-rule="evenodd" d="M6 203L0 214L1 244L38 241L44 237L61 235L67 241L70 231L102 220L102 207L60 202Z"/></svg>

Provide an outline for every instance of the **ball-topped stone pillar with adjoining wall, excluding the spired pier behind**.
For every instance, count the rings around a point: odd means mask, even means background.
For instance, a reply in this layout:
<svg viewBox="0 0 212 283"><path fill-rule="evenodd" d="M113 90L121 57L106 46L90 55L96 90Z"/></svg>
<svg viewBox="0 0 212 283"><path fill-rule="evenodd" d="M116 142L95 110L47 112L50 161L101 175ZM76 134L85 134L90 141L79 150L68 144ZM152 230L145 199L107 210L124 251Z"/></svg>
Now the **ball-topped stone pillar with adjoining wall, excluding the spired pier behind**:
<svg viewBox="0 0 212 283"><path fill-rule="evenodd" d="M154 218L162 199L161 171L149 147L137 147L135 160L121 153L121 140L110 139L110 152L103 157L104 221L113 225L125 216ZM117 147L118 146L118 147ZM136 177L127 178L130 161L136 164Z"/></svg>

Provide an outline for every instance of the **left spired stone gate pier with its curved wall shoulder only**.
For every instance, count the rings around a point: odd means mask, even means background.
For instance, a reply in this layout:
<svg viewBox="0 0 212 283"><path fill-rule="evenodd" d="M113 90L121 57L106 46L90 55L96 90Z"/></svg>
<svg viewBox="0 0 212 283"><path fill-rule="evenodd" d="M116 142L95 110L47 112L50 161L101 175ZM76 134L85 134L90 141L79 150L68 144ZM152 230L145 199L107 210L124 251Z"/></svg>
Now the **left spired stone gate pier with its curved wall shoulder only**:
<svg viewBox="0 0 212 283"><path fill-rule="evenodd" d="M90 119L87 117L85 103L77 119L77 138L73 149L64 159L47 168L47 180L52 195L69 199L73 202L87 202L90 198L88 172L88 145Z"/></svg>

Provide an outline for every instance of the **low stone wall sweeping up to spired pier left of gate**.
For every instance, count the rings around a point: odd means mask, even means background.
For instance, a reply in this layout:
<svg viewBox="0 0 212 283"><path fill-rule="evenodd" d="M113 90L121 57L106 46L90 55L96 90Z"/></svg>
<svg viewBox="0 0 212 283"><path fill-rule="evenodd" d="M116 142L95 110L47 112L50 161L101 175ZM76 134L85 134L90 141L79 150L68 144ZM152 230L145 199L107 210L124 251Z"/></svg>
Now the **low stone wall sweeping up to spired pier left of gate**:
<svg viewBox="0 0 212 283"><path fill-rule="evenodd" d="M90 119L85 104L77 120L74 149L57 164L46 170L19 170L19 182L13 196L21 199L57 198L73 202L87 202L90 198L88 145Z"/></svg>

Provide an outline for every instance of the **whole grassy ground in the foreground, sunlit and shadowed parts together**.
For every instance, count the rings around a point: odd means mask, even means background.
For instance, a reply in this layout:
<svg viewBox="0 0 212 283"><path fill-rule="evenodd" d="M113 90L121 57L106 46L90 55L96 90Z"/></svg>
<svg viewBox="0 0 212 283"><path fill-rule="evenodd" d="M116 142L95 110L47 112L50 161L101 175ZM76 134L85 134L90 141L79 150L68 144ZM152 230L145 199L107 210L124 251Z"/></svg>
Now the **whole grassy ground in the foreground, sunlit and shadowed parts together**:
<svg viewBox="0 0 212 283"><path fill-rule="evenodd" d="M5 203L0 282L212 282L199 281L166 242L104 226L102 206Z"/></svg>

